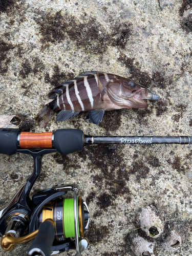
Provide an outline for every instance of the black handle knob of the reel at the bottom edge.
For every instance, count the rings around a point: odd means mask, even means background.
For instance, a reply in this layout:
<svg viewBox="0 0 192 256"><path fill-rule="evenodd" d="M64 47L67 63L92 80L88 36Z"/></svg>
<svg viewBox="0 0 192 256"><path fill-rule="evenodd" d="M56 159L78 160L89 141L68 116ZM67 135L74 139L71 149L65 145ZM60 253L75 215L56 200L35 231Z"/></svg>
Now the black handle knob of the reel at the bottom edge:
<svg viewBox="0 0 192 256"><path fill-rule="evenodd" d="M55 222L47 219L39 226L37 236L29 248L28 256L50 256L51 246L55 237Z"/></svg>

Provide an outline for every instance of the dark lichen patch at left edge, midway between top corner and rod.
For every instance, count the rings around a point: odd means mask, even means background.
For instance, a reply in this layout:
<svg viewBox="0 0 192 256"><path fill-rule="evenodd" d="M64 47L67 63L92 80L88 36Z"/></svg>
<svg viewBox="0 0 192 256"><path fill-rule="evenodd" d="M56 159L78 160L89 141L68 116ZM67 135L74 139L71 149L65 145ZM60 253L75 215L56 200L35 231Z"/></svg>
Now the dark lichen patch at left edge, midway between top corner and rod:
<svg viewBox="0 0 192 256"><path fill-rule="evenodd" d="M2 75L8 71L11 58L7 57L7 54L11 49L11 44L7 44L4 40L0 40L0 74Z"/></svg>

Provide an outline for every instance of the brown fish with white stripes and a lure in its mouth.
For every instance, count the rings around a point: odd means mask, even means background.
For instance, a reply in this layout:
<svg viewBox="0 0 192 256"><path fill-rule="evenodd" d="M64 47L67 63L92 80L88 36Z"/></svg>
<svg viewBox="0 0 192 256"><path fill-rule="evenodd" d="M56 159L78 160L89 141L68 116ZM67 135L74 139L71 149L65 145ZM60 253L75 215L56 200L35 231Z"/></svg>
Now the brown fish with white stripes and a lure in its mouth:
<svg viewBox="0 0 192 256"><path fill-rule="evenodd" d="M36 117L40 126L46 126L57 111L60 111L57 122L88 111L90 121L99 124L105 111L147 108L143 99L160 98L129 78L100 71L86 72L63 82L51 90L48 97L53 100Z"/></svg>

